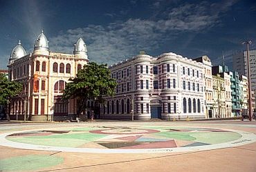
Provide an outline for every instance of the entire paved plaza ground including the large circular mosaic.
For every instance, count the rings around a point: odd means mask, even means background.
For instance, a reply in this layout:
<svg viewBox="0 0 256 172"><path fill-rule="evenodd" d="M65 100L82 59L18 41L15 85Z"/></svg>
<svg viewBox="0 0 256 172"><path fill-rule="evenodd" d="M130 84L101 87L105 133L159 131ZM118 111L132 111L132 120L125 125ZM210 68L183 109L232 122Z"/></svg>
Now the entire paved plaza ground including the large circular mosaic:
<svg viewBox="0 0 256 172"><path fill-rule="evenodd" d="M255 133L240 121L1 124L0 171L255 171Z"/></svg>

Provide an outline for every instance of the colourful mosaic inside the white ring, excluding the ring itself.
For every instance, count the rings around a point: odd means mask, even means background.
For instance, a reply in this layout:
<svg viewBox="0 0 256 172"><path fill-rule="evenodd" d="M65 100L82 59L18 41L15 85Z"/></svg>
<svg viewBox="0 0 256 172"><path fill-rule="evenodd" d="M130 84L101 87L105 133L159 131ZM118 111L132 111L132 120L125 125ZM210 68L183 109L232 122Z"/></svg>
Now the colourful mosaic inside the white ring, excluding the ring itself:
<svg viewBox="0 0 256 172"><path fill-rule="evenodd" d="M30 131L6 137L13 142L53 147L161 149L199 147L241 138L236 132L197 127L75 127Z"/></svg>

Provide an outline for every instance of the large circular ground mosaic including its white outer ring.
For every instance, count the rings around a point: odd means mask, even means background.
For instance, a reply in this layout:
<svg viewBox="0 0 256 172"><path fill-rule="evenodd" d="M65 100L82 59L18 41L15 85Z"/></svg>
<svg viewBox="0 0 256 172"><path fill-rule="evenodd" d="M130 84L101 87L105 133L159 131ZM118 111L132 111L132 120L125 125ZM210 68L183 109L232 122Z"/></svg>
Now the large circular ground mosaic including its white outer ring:
<svg viewBox="0 0 256 172"><path fill-rule="evenodd" d="M253 133L205 127L73 127L0 135L21 149L87 153L166 153L235 147L255 142Z"/></svg>

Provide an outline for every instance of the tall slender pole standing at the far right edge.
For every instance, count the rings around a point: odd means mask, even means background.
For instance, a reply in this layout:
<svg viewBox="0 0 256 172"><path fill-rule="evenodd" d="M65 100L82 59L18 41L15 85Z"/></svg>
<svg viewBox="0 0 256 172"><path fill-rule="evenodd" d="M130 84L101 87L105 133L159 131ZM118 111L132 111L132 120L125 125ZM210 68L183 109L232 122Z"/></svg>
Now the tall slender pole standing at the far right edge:
<svg viewBox="0 0 256 172"><path fill-rule="evenodd" d="M247 77L248 77L248 116L249 120L252 121L253 118L253 111L252 111L252 97L251 97L251 88L250 88L250 58L249 58L249 45L252 43L252 41L244 41L243 44L247 45Z"/></svg>

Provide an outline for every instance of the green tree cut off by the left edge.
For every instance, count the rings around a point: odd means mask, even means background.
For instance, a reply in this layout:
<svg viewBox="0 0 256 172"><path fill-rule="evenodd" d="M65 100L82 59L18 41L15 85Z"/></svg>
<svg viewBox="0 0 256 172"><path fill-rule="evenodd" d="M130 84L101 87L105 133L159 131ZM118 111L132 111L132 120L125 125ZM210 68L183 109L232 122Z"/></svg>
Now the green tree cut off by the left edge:
<svg viewBox="0 0 256 172"><path fill-rule="evenodd" d="M6 113L9 98L17 96L22 90L22 84L15 81L8 81L5 74L0 74L0 105L3 107L3 113L6 114L8 120L10 120Z"/></svg>

